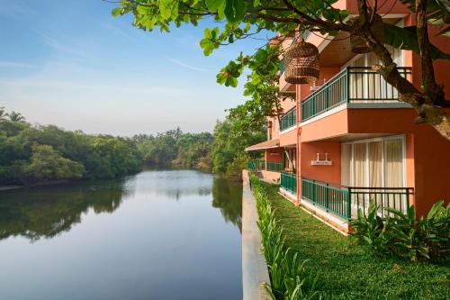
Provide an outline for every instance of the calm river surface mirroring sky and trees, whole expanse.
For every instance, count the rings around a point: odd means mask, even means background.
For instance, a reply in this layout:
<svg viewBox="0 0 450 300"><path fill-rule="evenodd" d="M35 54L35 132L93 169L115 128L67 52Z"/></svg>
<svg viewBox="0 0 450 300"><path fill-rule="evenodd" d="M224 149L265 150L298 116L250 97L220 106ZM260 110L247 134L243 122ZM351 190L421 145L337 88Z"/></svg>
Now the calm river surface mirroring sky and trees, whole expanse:
<svg viewBox="0 0 450 300"><path fill-rule="evenodd" d="M241 299L241 195L191 170L0 192L0 299Z"/></svg>

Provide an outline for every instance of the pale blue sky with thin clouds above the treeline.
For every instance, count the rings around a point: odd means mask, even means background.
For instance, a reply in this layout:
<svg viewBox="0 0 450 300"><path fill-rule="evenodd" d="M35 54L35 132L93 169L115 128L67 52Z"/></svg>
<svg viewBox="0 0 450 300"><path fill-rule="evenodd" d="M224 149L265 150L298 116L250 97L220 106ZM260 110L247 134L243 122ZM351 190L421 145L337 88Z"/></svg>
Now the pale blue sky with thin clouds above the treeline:
<svg viewBox="0 0 450 300"><path fill-rule="evenodd" d="M131 16L113 18L101 0L0 0L0 106L31 123L132 135L212 131L224 110L242 103L217 71L246 40L204 57L205 27L143 32ZM243 80L241 80L241 84Z"/></svg>

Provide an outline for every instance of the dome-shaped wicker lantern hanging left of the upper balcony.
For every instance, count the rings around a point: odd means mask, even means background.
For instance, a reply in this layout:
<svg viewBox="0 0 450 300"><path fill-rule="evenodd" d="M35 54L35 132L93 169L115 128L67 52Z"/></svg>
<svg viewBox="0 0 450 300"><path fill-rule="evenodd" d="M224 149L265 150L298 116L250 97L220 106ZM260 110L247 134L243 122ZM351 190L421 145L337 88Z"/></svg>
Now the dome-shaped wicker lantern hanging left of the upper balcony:
<svg viewBox="0 0 450 300"><path fill-rule="evenodd" d="M299 41L284 56L284 79L290 84L311 84L319 79L319 50L306 41Z"/></svg>

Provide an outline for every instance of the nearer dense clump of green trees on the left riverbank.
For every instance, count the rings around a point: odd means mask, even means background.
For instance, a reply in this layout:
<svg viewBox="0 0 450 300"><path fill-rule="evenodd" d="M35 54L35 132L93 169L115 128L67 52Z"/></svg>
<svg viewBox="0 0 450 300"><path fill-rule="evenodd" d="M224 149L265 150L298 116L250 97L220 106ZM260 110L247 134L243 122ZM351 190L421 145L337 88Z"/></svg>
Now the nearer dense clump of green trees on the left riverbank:
<svg viewBox="0 0 450 300"><path fill-rule="evenodd" d="M0 184L76 178L112 178L138 171L134 141L109 135L33 126L22 114L0 120Z"/></svg>

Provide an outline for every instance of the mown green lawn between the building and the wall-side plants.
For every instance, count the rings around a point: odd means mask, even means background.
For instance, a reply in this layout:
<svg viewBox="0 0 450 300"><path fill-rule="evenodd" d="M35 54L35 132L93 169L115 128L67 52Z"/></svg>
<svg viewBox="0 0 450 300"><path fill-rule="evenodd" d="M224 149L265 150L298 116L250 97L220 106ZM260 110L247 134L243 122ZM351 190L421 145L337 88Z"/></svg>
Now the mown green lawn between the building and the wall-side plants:
<svg viewBox="0 0 450 300"><path fill-rule="evenodd" d="M380 258L329 228L265 184L286 244L319 273L325 299L449 299L450 264Z"/></svg>

